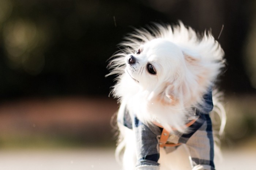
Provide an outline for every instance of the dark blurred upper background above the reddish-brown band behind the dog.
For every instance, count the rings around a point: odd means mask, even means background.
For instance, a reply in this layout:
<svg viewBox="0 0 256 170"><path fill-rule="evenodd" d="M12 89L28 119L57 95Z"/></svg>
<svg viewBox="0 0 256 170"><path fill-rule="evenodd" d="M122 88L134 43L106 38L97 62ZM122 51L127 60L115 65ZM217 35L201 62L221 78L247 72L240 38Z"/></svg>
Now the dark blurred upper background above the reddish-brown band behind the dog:
<svg viewBox="0 0 256 170"><path fill-rule="evenodd" d="M0 96L107 95L106 60L122 37L178 19L212 29L228 63L226 92L252 92L242 63L252 0L0 0Z"/></svg>

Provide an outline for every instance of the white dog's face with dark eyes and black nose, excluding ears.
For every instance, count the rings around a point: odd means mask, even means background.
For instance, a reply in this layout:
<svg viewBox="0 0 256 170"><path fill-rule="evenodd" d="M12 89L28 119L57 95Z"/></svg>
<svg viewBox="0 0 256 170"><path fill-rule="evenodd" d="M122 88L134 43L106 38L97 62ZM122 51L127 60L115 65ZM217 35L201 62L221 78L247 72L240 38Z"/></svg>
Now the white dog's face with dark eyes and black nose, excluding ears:
<svg viewBox="0 0 256 170"><path fill-rule="evenodd" d="M182 50L164 39L154 39L125 57L125 71L143 89L164 90L184 76L185 59Z"/></svg>

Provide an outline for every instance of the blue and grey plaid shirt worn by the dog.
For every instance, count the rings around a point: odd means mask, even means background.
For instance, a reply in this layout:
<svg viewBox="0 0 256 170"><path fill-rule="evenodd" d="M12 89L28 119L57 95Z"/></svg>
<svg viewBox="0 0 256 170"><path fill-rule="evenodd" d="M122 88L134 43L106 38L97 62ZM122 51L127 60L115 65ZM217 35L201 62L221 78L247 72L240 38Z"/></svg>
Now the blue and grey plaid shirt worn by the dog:
<svg viewBox="0 0 256 170"><path fill-rule="evenodd" d="M183 143L188 146L191 155L192 167L202 165L204 169L214 170L214 141L212 135L212 123L209 112L213 108L211 91L204 95L206 107L196 109L198 119L189 126L189 133L174 131L169 134L168 142ZM119 123L135 131L136 152L138 156L136 169L159 169L159 138L162 128L154 124L143 124L135 114L131 118L128 110L124 112L123 119ZM172 152L179 146L164 147L166 152Z"/></svg>

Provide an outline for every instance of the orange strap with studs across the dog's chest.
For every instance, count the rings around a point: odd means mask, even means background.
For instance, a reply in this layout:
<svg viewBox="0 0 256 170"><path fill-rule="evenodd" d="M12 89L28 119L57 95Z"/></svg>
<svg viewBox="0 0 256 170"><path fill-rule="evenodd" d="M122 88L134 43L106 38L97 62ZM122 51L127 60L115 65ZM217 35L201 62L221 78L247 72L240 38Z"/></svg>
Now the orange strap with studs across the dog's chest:
<svg viewBox="0 0 256 170"><path fill-rule="evenodd" d="M196 119L193 119L191 120L190 122L188 122L187 124L185 124L184 128L187 128L189 126L191 126L193 123L196 122L196 120L198 119L198 117ZM163 128L163 126L157 122L153 122L155 125L157 125L158 127L161 127ZM176 128L172 128L173 130L177 130ZM159 140L159 146L160 147L165 147L165 146L179 146L181 145L181 143L171 143L171 142L168 142L168 138L169 138L169 134L170 134L170 131L166 130L165 128L163 128L163 131L162 131L162 134L161 134L161 137L160 137L160 140Z"/></svg>

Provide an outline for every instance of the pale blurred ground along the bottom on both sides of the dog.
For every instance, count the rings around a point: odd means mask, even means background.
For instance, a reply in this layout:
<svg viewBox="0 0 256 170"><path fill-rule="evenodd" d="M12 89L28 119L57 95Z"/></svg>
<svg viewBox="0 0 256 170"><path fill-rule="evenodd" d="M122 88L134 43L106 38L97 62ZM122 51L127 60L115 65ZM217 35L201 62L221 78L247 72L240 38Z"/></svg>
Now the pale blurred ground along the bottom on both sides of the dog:
<svg viewBox="0 0 256 170"><path fill-rule="evenodd" d="M256 150L225 150L217 170L255 170ZM120 170L114 149L4 150L1 170Z"/></svg>

